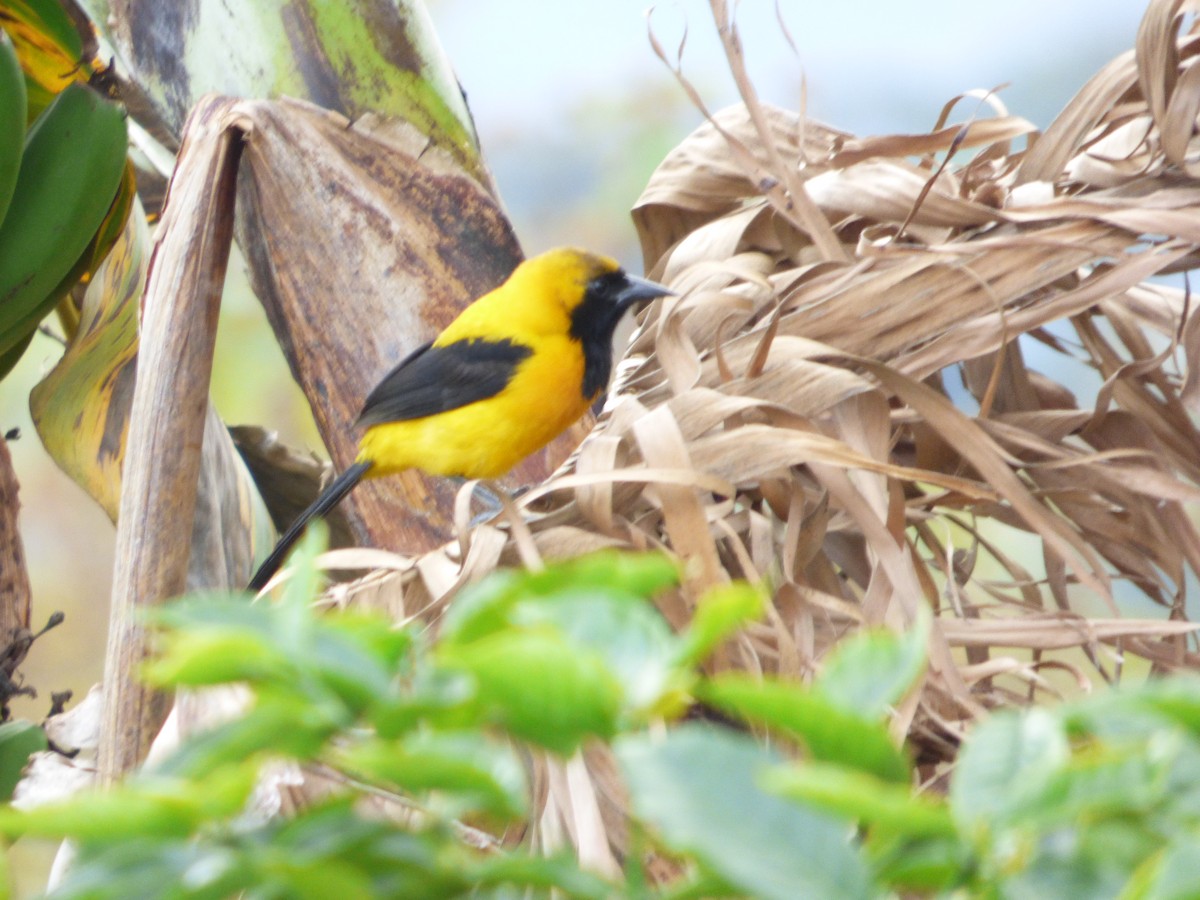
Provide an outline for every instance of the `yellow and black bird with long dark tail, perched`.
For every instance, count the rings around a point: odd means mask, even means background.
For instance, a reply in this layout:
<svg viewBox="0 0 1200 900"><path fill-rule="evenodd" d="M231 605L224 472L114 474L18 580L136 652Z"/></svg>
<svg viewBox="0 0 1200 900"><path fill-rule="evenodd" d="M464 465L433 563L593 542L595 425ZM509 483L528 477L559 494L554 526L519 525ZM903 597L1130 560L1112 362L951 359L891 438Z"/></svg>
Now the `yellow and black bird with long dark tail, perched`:
<svg viewBox="0 0 1200 900"><path fill-rule="evenodd" d="M492 479L544 448L608 386L625 312L670 294L577 247L526 259L367 395L354 463L296 517L248 589L260 592L308 522L364 479L407 469Z"/></svg>

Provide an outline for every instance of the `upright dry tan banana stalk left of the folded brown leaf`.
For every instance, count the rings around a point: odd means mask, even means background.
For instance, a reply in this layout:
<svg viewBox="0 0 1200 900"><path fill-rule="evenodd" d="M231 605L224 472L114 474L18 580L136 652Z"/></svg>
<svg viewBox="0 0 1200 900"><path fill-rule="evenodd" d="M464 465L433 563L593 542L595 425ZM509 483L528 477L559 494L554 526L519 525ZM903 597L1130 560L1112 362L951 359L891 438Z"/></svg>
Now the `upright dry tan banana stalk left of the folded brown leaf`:
<svg viewBox="0 0 1200 900"><path fill-rule="evenodd" d="M170 703L169 696L145 690L128 674L145 659L138 607L148 598L175 596L186 587L241 154L241 134L223 128L220 116L214 121L214 106L202 103L193 114L199 151L180 156L146 284L118 516L100 745L100 774L109 781L145 757Z"/></svg>

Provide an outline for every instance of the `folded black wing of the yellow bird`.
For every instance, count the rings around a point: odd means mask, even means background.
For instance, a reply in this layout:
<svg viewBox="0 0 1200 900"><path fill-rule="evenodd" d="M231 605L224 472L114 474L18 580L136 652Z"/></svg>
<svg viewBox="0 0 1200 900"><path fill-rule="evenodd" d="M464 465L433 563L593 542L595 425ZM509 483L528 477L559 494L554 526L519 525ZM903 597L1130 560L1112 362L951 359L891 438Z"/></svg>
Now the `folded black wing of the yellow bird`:
<svg viewBox="0 0 1200 900"><path fill-rule="evenodd" d="M424 419L494 397L530 353L509 340L418 347L371 391L358 425Z"/></svg>

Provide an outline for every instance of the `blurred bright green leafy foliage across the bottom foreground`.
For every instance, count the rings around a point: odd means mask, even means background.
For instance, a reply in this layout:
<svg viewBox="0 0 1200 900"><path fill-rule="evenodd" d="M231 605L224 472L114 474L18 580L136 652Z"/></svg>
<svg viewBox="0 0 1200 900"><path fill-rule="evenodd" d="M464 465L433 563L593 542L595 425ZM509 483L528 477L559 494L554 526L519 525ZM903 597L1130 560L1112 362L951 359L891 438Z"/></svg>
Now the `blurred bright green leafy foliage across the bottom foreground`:
<svg viewBox="0 0 1200 900"><path fill-rule="evenodd" d="M1058 709L1006 710L962 750L949 796L913 790L887 733L923 670L928 620L844 642L814 684L696 664L761 612L730 586L676 634L649 598L677 572L604 553L467 589L430 640L320 612L313 559L275 602L192 596L155 614L161 686L241 683L242 715L108 792L0 809L8 838L73 838L54 896L1193 896L1200 890L1200 684L1164 679ZM702 698L745 728L660 725ZM480 850L530 816L530 754L610 742L630 797L622 878L569 854ZM254 803L268 763L343 788L290 818ZM379 794L408 824L364 812ZM259 799L259 804L262 800ZM268 804L269 805L269 804ZM683 875L654 886L643 851Z"/></svg>

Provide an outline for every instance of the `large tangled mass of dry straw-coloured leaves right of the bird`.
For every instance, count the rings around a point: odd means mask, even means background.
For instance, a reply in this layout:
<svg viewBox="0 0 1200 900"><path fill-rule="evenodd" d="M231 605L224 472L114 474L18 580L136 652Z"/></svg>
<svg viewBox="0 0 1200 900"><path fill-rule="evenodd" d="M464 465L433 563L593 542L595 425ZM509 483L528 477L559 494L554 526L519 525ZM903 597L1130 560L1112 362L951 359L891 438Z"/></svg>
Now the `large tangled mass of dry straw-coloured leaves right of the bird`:
<svg viewBox="0 0 1200 900"><path fill-rule="evenodd" d="M1156 281L1200 258L1182 6L1153 2L1136 52L1040 134L1001 110L856 138L743 84L635 206L646 270L680 296L641 323L581 449L518 499L521 527L340 596L436 626L458 584L522 553L664 548L690 563L661 600L674 623L722 578L770 584L720 665L794 678L928 605L930 672L896 719L923 758L1031 691L1135 656L1193 665L1200 326Z"/></svg>

